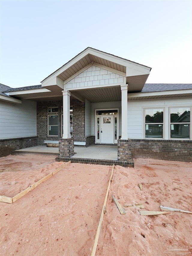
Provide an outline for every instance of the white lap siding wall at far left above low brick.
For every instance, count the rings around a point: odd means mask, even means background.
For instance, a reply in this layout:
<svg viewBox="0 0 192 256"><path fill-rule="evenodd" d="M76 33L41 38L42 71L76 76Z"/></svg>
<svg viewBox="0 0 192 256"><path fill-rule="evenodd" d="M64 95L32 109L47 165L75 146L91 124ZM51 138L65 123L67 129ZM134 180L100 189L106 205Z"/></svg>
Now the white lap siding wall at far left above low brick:
<svg viewBox="0 0 192 256"><path fill-rule="evenodd" d="M0 103L0 139L37 136L37 104Z"/></svg>

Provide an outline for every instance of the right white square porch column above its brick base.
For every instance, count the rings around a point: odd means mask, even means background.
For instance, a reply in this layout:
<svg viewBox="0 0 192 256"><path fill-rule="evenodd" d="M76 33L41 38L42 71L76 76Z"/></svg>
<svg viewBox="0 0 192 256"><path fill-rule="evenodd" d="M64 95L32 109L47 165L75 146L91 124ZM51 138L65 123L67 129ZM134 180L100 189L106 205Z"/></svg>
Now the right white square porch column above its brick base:
<svg viewBox="0 0 192 256"><path fill-rule="evenodd" d="M121 86L121 122L122 122L122 140L128 140L127 134L127 92L128 85Z"/></svg>

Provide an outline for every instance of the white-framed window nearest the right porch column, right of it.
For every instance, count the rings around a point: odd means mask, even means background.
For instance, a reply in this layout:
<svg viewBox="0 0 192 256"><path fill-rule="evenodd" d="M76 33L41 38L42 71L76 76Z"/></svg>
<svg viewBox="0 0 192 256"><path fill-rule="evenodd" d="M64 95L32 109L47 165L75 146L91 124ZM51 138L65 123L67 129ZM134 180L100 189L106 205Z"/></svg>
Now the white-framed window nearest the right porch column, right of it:
<svg viewBox="0 0 192 256"><path fill-rule="evenodd" d="M145 109L145 138L163 139L164 109Z"/></svg>

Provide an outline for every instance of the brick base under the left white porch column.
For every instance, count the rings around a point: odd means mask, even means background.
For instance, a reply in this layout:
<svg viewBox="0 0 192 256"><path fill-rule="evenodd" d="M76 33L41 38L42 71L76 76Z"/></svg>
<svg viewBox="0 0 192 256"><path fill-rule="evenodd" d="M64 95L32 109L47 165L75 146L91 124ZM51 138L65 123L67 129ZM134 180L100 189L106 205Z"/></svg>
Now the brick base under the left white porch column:
<svg viewBox="0 0 192 256"><path fill-rule="evenodd" d="M68 158L74 155L74 139L59 139L59 157Z"/></svg>

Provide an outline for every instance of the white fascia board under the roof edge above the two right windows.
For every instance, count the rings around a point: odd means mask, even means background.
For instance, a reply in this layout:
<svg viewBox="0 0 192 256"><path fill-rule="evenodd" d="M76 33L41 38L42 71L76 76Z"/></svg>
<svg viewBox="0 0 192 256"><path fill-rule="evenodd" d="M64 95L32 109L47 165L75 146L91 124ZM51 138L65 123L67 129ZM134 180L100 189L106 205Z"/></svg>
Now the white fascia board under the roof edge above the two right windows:
<svg viewBox="0 0 192 256"><path fill-rule="evenodd" d="M184 94L184 93L192 93L192 90L186 89L186 90L163 91L163 92L136 92L136 93L134 92L134 93L128 93L128 98L162 96L162 95L177 95L177 94Z"/></svg>

